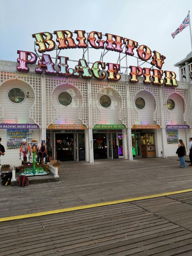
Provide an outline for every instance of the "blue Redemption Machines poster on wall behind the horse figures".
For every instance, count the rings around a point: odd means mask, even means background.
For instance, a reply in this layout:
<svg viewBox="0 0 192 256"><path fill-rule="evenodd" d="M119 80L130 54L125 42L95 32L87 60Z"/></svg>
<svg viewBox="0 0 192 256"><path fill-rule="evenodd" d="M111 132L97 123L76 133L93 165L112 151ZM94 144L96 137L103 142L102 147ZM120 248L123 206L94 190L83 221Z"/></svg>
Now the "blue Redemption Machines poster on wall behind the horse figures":
<svg viewBox="0 0 192 256"><path fill-rule="evenodd" d="M7 129L6 149L18 149L21 147L23 139L27 139L28 129Z"/></svg>

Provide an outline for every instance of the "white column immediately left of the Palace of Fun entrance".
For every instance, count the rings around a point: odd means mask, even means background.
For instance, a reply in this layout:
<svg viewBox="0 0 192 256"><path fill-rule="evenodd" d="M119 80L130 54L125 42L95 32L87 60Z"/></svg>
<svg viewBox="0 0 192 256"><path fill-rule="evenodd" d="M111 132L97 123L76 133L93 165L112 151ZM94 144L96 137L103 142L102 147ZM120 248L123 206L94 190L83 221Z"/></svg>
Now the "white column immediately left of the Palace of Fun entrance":
<svg viewBox="0 0 192 256"><path fill-rule="evenodd" d="M86 154L88 159L87 162L94 163L94 154L93 154L93 130L92 130L92 101L91 101L91 82L90 79L87 79L87 101L88 101L88 130L85 130L85 139L86 139ZM88 147L87 147L88 146ZM87 154L88 150L88 154Z"/></svg>

